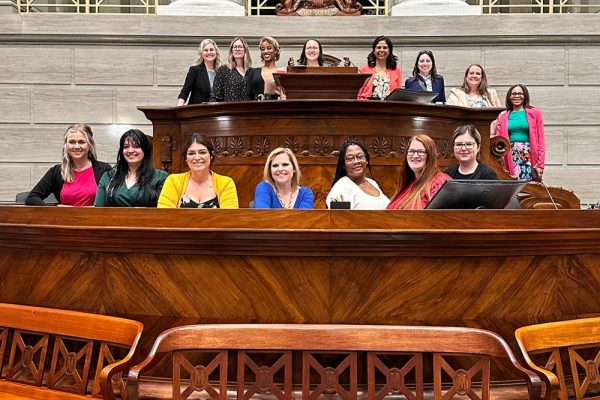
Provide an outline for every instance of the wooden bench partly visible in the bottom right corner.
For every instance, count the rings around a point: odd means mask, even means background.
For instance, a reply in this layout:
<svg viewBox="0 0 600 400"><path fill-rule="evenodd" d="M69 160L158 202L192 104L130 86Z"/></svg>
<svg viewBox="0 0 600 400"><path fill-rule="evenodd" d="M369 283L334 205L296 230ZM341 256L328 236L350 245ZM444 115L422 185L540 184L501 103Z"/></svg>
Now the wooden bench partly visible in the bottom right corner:
<svg viewBox="0 0 600 400"><path fill-rule="evenodd" d="M590 385L600 383L599 332L600 318L550 322L517 329L515 335L523 358L546 383L545 399L567 400L569 398L560 356L561 348L566 348L569 354L575 398L577 400L600 398L597 395L586 397ZM586 349L587 352L593 351L593 357L582 354ZM545 362L534 362L532 357L536 355L544 356ZM583 379L582 375L585 375Z"/></svg>

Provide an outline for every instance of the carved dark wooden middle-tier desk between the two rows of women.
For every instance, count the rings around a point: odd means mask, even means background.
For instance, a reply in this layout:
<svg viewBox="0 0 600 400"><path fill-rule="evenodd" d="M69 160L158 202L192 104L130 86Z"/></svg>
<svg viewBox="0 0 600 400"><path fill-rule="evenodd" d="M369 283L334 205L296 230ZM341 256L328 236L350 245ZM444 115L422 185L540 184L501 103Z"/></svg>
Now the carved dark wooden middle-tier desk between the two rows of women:
<svg viewBox="0 0 600 400"><path fill-rule="evenodd" d="M456 164L450 139L454 129L466 123L475 125L481 133L481 161L492 166L502 179L512 179L498 162L498 157L509 149L508 142L499 137L490 139L490 122L500 109L363 100L254 101L138 109L153 124L155 167L186 171L183 145L192 133L202 133L210 137L215 148L212 168L236 182L241 207L254 199L266 157L276 147L288 147L296 154L302 183L315 193L315 207L325 208L339 149L347 139L358 139L367 146L372 177L389 197L396 190L411 136L427 134L434 139L438 165L443 170ZM535 199L534 204L548 202L545 192L535 187L528 185L524 191L535 192L529 196ZM561 188L551 191L561 204L568 205L566 208L579 208L579 199L572 192Z"/></svg>

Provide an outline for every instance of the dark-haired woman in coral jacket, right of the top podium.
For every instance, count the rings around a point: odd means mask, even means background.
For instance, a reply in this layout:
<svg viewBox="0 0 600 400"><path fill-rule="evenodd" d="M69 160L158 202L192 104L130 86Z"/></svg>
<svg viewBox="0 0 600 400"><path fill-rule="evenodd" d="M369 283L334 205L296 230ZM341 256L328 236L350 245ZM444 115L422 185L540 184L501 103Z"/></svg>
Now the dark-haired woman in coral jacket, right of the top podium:
<svg viewBox="0 0 600 400"><path fill-rule="evenodd" d="M385 99L394 89L402 87L402 72L394 45L387 36L378 36L373 41L373 50L367 56L367 65L360 68L363 74L371 74L358 92L358 99Z"/></svg>

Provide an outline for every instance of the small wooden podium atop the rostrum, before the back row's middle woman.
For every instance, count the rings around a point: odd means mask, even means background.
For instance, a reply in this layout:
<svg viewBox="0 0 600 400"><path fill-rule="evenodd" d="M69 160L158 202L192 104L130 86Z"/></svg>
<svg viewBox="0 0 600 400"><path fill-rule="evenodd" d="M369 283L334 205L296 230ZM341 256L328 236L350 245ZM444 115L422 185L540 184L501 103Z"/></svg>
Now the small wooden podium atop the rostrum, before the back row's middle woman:
<svg viewBox="0 0 600 400"><path fill-rule="evenodd" d="M359 74L356 67L288 67L273 77L290 100L356 99L371 74Z"/></svg>

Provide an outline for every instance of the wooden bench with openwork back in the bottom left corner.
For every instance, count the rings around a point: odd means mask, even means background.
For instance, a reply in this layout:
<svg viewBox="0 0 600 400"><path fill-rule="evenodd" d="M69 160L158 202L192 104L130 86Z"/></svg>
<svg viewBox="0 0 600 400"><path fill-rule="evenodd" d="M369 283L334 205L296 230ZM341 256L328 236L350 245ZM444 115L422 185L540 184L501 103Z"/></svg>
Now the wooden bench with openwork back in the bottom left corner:
<svg viewBox="0 0 600 400"><path fill-rule="evenodd" d="M0 303L0 399L112 400L115 389L125 399L122 374L134 361L142 327L128 319Z"/></svg>

